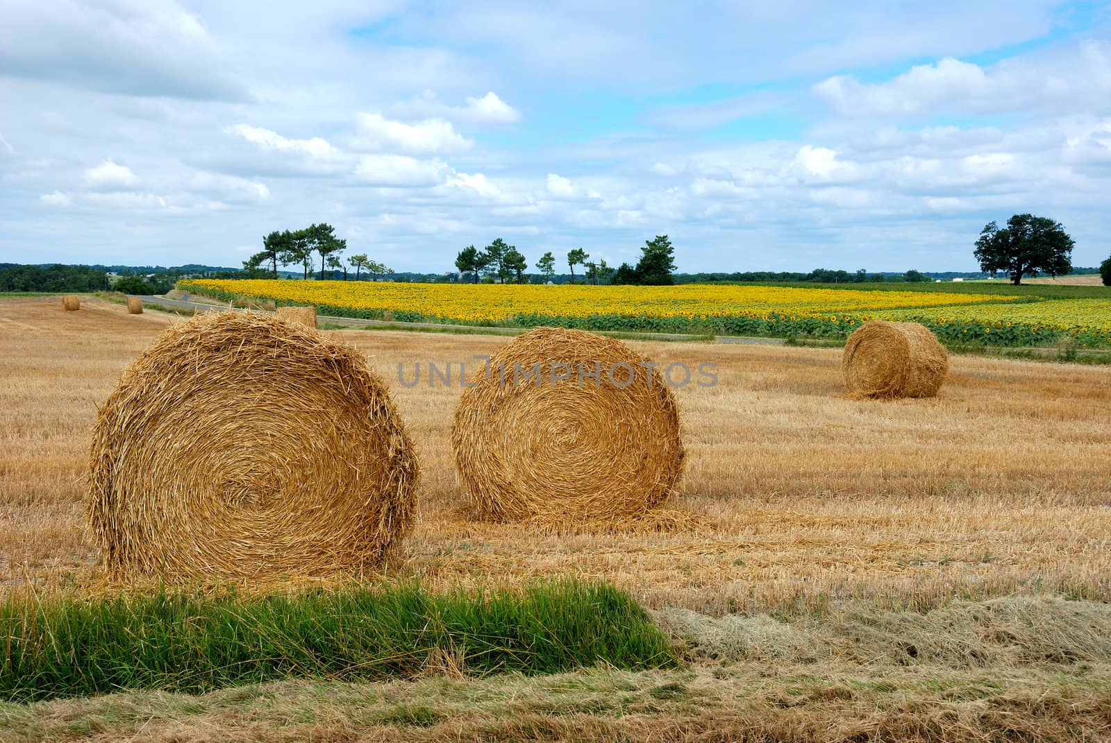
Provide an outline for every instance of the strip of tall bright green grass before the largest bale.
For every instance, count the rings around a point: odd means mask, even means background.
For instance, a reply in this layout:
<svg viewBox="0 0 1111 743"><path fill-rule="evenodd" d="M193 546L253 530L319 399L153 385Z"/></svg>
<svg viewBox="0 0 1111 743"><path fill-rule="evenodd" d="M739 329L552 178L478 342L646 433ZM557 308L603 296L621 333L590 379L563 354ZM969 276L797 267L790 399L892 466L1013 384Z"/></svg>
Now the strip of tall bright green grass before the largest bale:
<svg viewBox="0 0 1111 743"><path fill-rule="evenodd" d="M0 699L121 690L201 693L279 679L367 681L446 670L557 673L675 662L631 596L605 584L436 595L384 585L294 595L233 591L0 605Z"/></svg>

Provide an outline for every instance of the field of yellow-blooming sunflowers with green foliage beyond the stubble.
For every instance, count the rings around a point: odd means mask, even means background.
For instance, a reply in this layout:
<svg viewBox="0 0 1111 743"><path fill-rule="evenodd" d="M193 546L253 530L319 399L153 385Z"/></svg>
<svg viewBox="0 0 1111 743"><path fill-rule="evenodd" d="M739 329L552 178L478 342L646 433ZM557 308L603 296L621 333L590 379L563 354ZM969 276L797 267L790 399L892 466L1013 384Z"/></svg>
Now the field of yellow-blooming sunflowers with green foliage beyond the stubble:
<svg viewBox="0 0 1111 743"><path fill-rule="evenodd" d="M590 287L193 279L220 300L313 304L323 314L584 330L845 338L872 320L912 320L942 342L1111 348L1111 290L984 283L830 287Z"/></svg>

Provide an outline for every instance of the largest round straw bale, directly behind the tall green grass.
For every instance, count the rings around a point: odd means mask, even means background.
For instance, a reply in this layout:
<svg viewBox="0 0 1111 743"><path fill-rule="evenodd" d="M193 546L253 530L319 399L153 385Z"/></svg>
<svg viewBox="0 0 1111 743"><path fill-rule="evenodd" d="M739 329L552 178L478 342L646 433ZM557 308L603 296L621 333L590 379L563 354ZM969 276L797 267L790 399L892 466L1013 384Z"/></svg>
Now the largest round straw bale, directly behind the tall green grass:
<svg viewBox="0 0 1111 743"><path fill-rule="evenodd" d="M270 314L204 312L100 409L87 515L119 578L321 575L382 562L418 476L358 351Z"/></svg>

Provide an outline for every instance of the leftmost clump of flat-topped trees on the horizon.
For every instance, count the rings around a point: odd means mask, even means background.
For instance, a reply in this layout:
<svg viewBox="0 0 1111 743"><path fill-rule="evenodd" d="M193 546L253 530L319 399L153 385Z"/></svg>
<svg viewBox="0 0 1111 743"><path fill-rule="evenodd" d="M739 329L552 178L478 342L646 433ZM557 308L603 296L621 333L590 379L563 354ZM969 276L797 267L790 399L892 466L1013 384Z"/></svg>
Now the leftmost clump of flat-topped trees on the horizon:
<svg viewBox="0 0 1111 743"><path fill-rule="evenodd" d="M321 222L310 224L302 230L277 230L262 238L262 250L243 261L243 270L252 279L269 277L278 278L279 265L300 265L303 279L309 278L313 270L317 255L320 257L320 279L324 279L324 270L343 271L343 281L348 280L348 268L354 269L356 281L362 280L362 272L377 279L393 273L393 269L384 263L372 260L367 253L357 253L343 259L347 240L336 237L336 228ZM270 268L263 267L269 263Z"/></svg>

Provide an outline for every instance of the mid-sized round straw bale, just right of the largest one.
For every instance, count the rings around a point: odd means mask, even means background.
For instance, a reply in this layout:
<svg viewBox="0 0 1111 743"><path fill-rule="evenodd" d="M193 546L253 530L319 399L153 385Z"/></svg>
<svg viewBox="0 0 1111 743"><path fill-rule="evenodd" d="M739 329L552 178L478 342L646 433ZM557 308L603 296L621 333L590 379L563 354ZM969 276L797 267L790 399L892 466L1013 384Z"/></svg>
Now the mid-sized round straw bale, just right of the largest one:
<svg viewBox="0 0 1111 743"><path fill-rule="evenodd" d="M541 328L503 345L463 392L451 434L478 510L614 520L667 499L683 469L679 409L660 370L643 363L581 330Z"/></svg>

